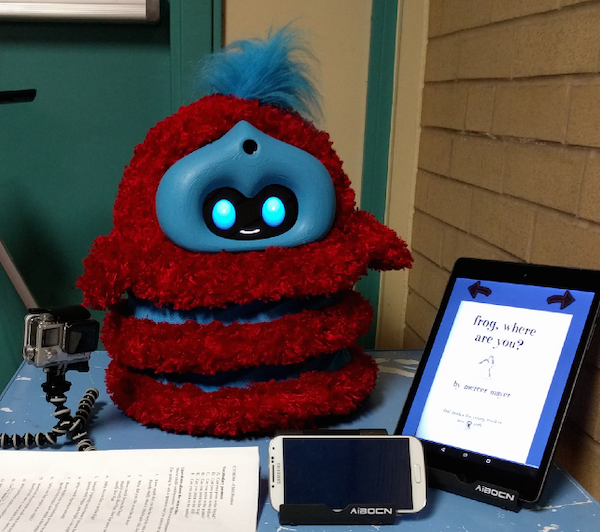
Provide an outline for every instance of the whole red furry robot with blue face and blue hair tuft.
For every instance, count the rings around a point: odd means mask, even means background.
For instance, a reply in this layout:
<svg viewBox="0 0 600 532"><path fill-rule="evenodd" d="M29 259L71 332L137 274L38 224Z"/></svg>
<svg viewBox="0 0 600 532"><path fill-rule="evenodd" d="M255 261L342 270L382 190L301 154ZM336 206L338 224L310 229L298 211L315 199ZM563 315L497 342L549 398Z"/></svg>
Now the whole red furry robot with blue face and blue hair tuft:
<svg viewBox="0 0 600 532"><path fill-rule="evenodd" d="M375 386L356 343L372 309L353 286L412 259L357 210L329 136L306 118L315 93L294 38L213 57L212 94L136 147L114 227L84 260L84 304L108 310L108 391L145 425L296 429L354 411Z"/></svg>

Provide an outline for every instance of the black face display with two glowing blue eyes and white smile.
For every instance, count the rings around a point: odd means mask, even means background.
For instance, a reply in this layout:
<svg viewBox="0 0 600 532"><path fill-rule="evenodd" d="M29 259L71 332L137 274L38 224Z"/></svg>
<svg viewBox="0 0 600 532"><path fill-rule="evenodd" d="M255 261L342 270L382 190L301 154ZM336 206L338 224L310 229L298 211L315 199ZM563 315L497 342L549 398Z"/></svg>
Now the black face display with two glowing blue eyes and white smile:
<svg viewBox="0 0 600 532"><path fill-rule="evenodd" d="M281 185L269 185L248 198L234 188L211 192L202 207L208 229L232 240L257 240L289 231L298 219L298 200Z"/></svg>

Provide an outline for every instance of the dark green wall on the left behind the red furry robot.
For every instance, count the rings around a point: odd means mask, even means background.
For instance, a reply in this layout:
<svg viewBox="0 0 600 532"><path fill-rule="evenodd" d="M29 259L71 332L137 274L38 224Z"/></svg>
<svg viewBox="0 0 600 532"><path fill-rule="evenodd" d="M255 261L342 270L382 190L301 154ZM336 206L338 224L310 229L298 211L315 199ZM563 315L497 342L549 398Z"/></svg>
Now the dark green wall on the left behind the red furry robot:
<svg viewBox="0 0 600 532"><path fill-rule="evenodd" d="M158 24L0 22L0 91L37 90L30 103L0 105L0 238L42 306L81 302L81 261L111 229L133 148L202 96L195 73L220 45L221 3L161 10ZM20 360L24 309L13 296L0 278L0 389Z"/></svg>

